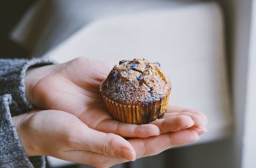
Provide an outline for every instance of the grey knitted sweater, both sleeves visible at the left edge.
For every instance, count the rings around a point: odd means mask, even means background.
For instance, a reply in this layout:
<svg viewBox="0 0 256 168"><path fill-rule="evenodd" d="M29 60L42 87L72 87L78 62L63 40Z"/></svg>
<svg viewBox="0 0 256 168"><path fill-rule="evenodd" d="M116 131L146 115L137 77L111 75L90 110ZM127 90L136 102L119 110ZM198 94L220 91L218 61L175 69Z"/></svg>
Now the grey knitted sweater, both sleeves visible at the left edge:
<svg viewBox="0 0 256 168"><path fill-rule="evenodd" d="M44 157L26 156L12 116L33 109L26 99L26 70L52 63L49 59L0 59L0 167L45 167Z"/></svg>

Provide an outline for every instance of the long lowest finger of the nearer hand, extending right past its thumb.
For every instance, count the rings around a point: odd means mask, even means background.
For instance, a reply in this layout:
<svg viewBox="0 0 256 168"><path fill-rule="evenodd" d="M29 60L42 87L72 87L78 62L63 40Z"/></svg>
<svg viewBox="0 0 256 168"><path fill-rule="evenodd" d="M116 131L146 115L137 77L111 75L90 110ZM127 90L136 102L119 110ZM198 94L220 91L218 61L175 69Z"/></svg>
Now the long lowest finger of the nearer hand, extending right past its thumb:
<svg viewBox="0 0 256 168"><path fill-rule="evenodd" d="M198 139L198 134L194 130L186 129L146 139L130 139L129 142L136 149L136 158L141 158L157 155L173 146L192 143Z"/></svg>

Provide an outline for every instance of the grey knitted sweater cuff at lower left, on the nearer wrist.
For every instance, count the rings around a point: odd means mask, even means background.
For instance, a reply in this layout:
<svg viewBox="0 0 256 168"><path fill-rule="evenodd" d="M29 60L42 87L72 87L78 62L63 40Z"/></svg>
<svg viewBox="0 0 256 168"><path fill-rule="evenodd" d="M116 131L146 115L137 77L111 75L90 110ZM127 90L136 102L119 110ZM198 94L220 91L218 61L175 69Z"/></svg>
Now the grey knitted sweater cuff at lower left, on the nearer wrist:
<svg viewBox="0 0 256 168"><path fill-rule="evenodd" d="M12 103L11 95L0 96L0 167L44 167L44 157L34 157L33 163L26 156L12 124L9 108Z"/></svg>

